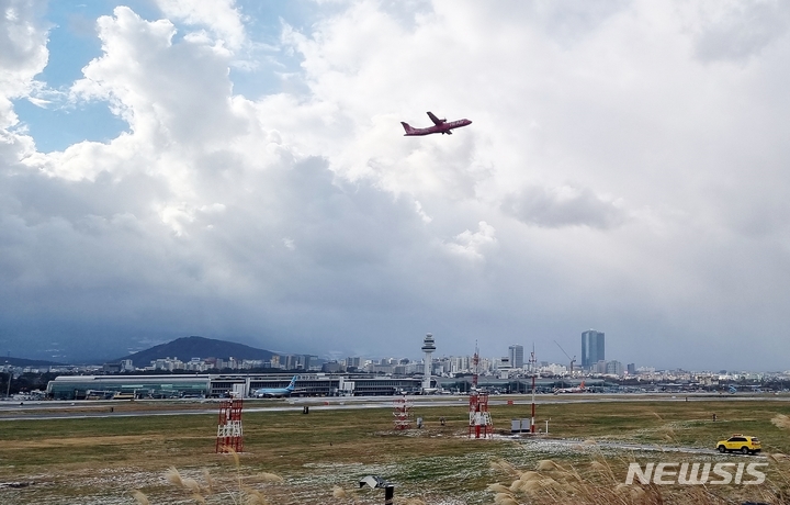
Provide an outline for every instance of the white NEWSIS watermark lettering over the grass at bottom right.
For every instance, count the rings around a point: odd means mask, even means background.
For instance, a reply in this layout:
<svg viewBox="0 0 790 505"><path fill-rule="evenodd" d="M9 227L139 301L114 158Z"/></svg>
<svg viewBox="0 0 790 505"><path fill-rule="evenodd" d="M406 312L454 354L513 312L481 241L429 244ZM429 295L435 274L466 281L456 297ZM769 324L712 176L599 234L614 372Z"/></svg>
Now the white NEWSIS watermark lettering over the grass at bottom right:
<svg viewBox="0 0 790 505"><path fill-rule="evenodd" d="M765 473L758 470L768 463L640 463L629 464L625 484L633 484L634 478L642 484L761 484Z"/></svg>

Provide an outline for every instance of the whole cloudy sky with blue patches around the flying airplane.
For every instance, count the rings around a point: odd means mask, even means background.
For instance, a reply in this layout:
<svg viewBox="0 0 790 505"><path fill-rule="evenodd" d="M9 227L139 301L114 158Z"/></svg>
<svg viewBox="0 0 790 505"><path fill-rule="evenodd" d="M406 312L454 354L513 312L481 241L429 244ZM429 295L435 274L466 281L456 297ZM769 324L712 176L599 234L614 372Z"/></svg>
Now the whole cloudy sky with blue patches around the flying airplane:
<svg viewBox="0 0 790 505"><path fill-rule="evenodd" d="M790 3L0 0L0 352L788 370ZM405 137L432 111L472 120ZM187 357L190 358L190 357Z"/></svg>

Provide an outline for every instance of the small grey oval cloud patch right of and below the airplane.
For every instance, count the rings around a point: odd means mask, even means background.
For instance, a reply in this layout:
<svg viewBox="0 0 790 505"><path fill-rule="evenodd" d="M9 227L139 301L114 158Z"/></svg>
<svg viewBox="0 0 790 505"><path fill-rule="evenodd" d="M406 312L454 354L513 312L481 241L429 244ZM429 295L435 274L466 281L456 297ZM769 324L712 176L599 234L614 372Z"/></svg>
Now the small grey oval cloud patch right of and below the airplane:
<svg viewBox="0 0 790 505"><path fill-rule="evenodd" d="M535 226L590 226L599 229L617 227L625 221L625 212L617 202L607 201L588 188L529 187L503 202L503 210L519 221Z"/></svg>

